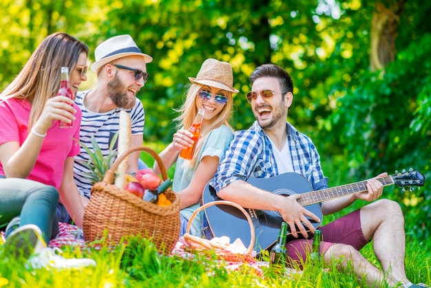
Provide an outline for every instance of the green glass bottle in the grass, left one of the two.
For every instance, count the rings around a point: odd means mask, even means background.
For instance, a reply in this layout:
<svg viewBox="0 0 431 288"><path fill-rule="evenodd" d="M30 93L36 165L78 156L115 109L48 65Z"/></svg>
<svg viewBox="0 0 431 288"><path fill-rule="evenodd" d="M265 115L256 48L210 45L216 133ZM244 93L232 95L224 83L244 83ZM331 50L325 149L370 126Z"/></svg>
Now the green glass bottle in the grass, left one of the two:
<svg viewBox="0 0 431 288"><path fill-rule="evenodd" d="M284 275L284 271L286 270L286 259L287 259L287 249L286 249L286 241L287 241L287 223L282 222L282 227L280 228L280 232L278 234L277 243L272 247L269 252L270 256L270 265L271 269L275 272L275 274Z"/></svg>

